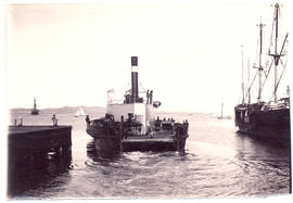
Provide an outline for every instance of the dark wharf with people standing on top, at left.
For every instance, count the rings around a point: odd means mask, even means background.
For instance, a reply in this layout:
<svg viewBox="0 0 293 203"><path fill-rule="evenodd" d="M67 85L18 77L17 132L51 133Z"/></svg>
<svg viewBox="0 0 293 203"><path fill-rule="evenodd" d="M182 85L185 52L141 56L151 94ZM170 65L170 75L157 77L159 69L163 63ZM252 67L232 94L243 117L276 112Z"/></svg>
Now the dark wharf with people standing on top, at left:
<svg viewBox="0 0 293 203"><path fill-rule="evenodd" d="M8 195L21 194L46 175L66 172L72 160L72 126L9 126Z"/></svg>

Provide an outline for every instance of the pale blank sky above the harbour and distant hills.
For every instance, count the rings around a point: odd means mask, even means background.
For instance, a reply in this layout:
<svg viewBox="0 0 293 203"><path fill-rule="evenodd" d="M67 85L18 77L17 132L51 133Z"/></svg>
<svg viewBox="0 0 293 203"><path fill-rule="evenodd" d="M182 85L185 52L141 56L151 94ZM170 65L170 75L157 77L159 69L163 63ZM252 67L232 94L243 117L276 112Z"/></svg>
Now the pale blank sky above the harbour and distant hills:
<svg viewBox="0 0 293 203"><path fill-rule="evenodd" d="M224 112L232 114L241 101L242 53L246 80L247 61L251 78L256 73L260 17L268 51L273 3L7 3L7 107L33 107L34 97L40 109L105 106L109 89L130 88L130 56L137 55L140 90L152 89L161 111L219 114L224 102ZM291 4L279 3L281 45ZM270 59L263 58L265 65ZM290 78L283 80L281 96Z"/></svg>

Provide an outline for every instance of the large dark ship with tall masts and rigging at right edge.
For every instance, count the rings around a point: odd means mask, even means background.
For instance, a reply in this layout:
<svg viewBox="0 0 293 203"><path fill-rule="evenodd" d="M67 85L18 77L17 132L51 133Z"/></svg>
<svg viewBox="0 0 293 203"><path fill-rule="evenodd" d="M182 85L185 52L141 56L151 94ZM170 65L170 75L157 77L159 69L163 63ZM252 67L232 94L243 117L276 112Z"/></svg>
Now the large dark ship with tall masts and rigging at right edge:
<svg viewBox="0 0 293 203"><path fill-rule="evenodd" d="M243 83L243 73L242 73L242 103L234 107L234 122L235 126L239 128L239 131L245 132L255 137L266 137L278 140L290 140L291 131L290 131L290 90L289 86L286 89L286 97L278 99L277 90L279 84L281 81L282 74L280 77L278 76L278 68L280 68L280 63L283 66L283 71L285 65L283 65L281 58L284 56L284 47L286 43L288 34L285 35L282 47L279 51L278 49L278 17L280 13L280 5L275 4L275 13L273 13L273 24L272 24L272 34L273 39L271 37L273 53L269 50L269 56L272 58L269 68L264 68L262 64L262 55L263 55L263 27L264 24L260 22L259 26L259 63L255 68L257 68L259 85L258 85L258 97L256 103L251 103L251 94L250 90L252 85L247 88L247 92L245 96L249 96L249 101L245 103L244 97L244 83ZM242 52L243 58L243 52ZM242 59L243 62L243 59ZM262 99L263 87L268 77L268 74L271 69L275 68L275 87L273 87L273 96L272 100L268 102L264 102ZM243 64L242 64L243 72ZM263 79L263 75L265 75L265 79ZM253 84L253 83L252 83Z"/></svg>

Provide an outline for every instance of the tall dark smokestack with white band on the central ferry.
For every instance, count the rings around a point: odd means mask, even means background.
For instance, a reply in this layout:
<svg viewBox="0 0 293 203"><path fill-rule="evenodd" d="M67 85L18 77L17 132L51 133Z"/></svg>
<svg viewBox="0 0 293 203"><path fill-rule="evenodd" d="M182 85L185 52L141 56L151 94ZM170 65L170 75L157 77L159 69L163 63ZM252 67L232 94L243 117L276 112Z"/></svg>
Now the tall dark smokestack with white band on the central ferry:
<svg viewBox="0 0 293 203"><path fill-rule="evenodd" d="M136 103L138 97L138 56L131 56L131 103Z"/></svg>

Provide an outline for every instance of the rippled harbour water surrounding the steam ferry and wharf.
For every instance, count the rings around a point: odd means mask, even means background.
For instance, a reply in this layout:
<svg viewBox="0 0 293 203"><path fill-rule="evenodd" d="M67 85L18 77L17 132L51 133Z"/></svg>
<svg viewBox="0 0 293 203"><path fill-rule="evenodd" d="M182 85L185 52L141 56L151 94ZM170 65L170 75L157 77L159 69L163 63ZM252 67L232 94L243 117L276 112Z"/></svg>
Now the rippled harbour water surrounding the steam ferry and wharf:
<svg viewBox="0 0 293 203"><path fill-rule="evenodd" d="M290 191L290 148L237 134L233 119L202 114L161 114L188 119L187 153L127 152L99 157L85 117L59 114L72 125L72 156L23 164L10 178L10 198L226 198L276 195ZM90 116L101 116L87 112ZM52 113L16 112L24 125L51 124Z"/></svg>

